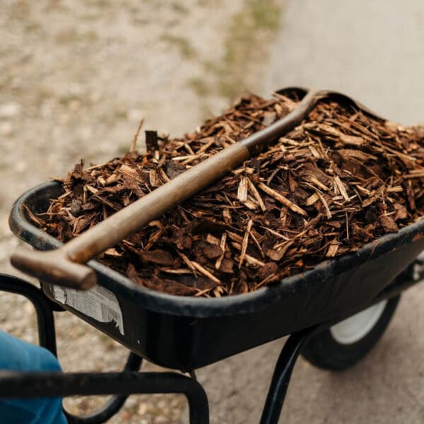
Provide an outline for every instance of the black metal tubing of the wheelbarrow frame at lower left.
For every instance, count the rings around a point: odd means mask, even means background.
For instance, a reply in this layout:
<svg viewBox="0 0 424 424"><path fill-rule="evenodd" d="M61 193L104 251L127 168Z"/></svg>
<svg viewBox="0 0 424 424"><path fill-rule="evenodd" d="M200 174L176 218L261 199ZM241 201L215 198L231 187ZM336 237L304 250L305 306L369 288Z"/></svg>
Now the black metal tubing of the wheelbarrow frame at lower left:
<svg viewBox="0 0 424 424"><path fill-rule="evenodd" d="M55 356L56 331L53 311L62 311L42 290L20 278L0 273L0 291L23 295L30 300L37 313L40 346ZM35 396L70 396L112 394L109 401L88 416L73 416L66 413L71 424L105 423L123 406L130 394L182 393L189 402L190 423L209 422L208 398L196 379L172 372L137 372L141 358L130 353L121 373L80 373L62 372L0 372L0 399L31 398ZM0 370L1 371L1 370Z"/></svg>

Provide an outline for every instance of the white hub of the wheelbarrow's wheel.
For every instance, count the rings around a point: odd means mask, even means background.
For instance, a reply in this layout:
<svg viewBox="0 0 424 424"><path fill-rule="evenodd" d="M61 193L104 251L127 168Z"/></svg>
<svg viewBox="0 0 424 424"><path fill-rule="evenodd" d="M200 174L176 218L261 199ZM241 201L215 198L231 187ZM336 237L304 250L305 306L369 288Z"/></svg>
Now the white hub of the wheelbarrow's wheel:
<svg viewBox="0 0 424 424"><path fill-rule="evenodd" d="M386 304L387 300L382 300L376 305L338 322L330 328L331 335L341 344L352 344L360 341L377 324Z"/></svg>

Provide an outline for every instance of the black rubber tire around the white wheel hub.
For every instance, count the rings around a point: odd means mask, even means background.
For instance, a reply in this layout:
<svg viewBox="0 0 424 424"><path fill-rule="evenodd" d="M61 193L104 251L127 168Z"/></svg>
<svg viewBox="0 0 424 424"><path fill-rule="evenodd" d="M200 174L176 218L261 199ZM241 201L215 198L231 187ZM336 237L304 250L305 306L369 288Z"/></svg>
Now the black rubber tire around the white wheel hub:
<svg viewBox="0 0 424 424"><path fill-rule="evenodd" d="M310 338L302 348L302 356L315 367L343 371L361 360L375 346L393 317L401 295L388 300L375 326L360 340L341 344L334 339L330 329Z"/></svg>

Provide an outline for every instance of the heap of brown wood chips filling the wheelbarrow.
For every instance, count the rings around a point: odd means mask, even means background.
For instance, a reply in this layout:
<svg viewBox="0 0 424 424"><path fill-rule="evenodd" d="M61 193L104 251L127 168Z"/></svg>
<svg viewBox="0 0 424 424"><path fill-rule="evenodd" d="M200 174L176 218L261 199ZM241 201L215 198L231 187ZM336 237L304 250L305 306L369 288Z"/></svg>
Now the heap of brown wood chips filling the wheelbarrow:
<svg viewBox="0 0 424 424"><path fill-rule="evenodd" d="M183 139L146 131L146 154L76 165L65 193L32 219L66 242L297 102L250 95ZM247 293L416 222L423 182L424 128L322 100L257 157L98 259L165 293Z"/></svg>

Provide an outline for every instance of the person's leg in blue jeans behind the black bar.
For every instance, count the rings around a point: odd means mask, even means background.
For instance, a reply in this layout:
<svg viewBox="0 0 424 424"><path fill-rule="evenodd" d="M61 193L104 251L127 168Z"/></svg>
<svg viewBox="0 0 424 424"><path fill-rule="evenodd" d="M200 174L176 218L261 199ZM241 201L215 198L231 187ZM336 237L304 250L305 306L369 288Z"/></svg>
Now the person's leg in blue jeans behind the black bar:
<svg viewBox="0 0 424 424"><path fill-rule="evenodd" d="M0 370L61 371L57 358L45 348L0 330ZM0 422L5 424L66 424L61 398L0 399Z"/></svg>

